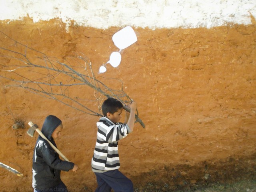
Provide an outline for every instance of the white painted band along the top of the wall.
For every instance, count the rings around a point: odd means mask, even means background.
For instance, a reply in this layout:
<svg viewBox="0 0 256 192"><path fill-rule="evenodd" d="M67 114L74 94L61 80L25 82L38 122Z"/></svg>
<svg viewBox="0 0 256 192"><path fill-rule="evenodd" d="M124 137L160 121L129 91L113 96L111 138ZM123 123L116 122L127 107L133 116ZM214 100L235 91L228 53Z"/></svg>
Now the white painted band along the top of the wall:
<svg viewBox="0 0 256 192"><path fill-rule="evenodd" d="M251 24L256 0L0 0L0 20L60 18L70 24L109 28L199 28Z"/></svg>

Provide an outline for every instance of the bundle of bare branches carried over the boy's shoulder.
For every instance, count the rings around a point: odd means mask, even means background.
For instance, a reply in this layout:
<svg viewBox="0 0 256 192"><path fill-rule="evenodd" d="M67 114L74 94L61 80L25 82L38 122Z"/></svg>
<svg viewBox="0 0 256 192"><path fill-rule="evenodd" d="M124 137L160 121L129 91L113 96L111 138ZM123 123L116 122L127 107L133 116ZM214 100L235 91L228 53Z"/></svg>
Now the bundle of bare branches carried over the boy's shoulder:
<svg viewBox="0 0 256 192"><path fill-rule="evenodd" d="M0 62L4 68L0 77L12 82L6 87L24 88L94 116L103 116L100 109L102 101L113 97L123 103L124 110L130 112L126 104L132 99L124 92L122 82L118 80L119 88L110 88L98 80L90 60L83 54L58 59L21 44L1 31L0 39L4 40L0 45L0 58L4 58ZM80 92L75 91L77 89ZM88 102L95 102L97 108L89 108ZM144 128L138 110L135 117Z"/></svg>

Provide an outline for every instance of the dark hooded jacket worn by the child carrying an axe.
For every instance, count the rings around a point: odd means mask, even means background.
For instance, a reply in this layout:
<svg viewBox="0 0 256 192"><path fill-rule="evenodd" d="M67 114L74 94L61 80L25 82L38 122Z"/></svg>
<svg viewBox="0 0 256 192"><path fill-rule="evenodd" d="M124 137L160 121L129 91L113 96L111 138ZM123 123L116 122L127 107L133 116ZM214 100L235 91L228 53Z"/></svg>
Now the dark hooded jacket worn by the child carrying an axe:
<svg viewBox="0 0 256 192"><path fill-rule="evenodd" d="M56 146L52 132L61 124L61 120L56 116L46 117L41 132L48 140ZM57 147L57 146L56 146ZM35 189L44 189L54 187L60 182L60 171L69 171L73 169L74 163L60 160L58 153L41 136L36 141L33 155L33 179L32 186Z"/></svg>

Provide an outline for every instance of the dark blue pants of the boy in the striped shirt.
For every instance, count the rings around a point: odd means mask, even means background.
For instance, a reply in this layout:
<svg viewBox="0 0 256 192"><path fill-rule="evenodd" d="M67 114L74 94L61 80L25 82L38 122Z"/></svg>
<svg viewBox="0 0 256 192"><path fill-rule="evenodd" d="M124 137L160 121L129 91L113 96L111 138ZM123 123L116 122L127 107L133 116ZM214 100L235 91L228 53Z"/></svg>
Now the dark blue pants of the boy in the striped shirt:
<svg viewBox="0 0 256 192"><path fill-rule="evenodd" d="M132 181L118 169L104 173L94 173L98 182L95 192L110 192L111 189L115 192L133 192Z"/></svg>

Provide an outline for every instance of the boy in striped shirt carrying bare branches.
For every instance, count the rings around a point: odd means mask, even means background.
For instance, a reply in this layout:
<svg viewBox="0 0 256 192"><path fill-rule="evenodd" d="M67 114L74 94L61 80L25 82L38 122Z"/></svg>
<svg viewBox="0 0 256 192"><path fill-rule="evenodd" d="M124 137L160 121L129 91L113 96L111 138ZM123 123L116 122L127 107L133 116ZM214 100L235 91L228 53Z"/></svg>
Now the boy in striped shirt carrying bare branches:
<svg viewBox="0 0 256 192"><path fill-rule="evenodd" d="M118 140L125 138L134 128L136 102L130 104L130 116L126 115L126 124L119 123L123 110L120 101L114 98L106 99L102 104L104 117L97 122L97 142L92 157L92 171L96 175L98 187L95 192L133 192L133 184L124 176L120 167L118 155ZM127 113L126 113L127 114Z"/></svg>

